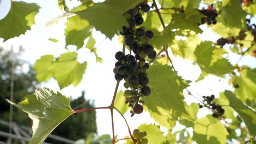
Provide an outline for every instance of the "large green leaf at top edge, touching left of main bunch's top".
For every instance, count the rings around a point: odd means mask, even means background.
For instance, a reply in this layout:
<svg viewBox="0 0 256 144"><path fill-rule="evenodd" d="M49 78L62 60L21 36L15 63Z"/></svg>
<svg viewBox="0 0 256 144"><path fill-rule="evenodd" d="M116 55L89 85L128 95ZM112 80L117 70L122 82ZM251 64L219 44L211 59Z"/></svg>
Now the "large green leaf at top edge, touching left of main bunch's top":
<svg viewBox="0 0 256 144"><path fill-rule="evenodd" d="M134 8L142 0L106 0L95 4L85 10L75 12L82 19L86 19L98 31L101 31L108 38L112 38L122 26L127 25L123 14L125 11Z"/></svg>

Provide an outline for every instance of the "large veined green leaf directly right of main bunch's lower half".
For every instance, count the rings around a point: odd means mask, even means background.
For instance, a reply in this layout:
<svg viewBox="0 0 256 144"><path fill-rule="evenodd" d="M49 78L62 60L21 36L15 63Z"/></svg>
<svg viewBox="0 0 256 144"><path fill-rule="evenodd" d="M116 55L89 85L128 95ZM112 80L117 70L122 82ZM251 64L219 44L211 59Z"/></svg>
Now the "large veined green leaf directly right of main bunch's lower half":
<svg viewBox="0 0 256 144"><path fill-rule="evenodd" d="M172 71L172 67L152 65L148 69L148 78L151 94L144 98L144 106L156 122L169 128L168 121L174 121L181 115L191 119L183 102L183 89L188 85L177 72Z"/></svg>

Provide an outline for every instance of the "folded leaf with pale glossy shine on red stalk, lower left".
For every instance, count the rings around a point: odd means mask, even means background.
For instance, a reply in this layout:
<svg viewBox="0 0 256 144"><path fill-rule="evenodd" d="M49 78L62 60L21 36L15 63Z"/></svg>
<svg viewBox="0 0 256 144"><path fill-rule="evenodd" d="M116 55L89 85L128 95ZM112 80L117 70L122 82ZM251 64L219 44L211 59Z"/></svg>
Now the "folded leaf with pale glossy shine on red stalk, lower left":
<svg viewBox="0 0 256 144"><path fill-rule="evenodd" d="M66 98L59 92L56 94L48 88L37 89L36 93L27 95L25 100L18 104L7 101L28 113L32 119L31 144L43 143L57 125L72 115L70 98Z"/></svg>

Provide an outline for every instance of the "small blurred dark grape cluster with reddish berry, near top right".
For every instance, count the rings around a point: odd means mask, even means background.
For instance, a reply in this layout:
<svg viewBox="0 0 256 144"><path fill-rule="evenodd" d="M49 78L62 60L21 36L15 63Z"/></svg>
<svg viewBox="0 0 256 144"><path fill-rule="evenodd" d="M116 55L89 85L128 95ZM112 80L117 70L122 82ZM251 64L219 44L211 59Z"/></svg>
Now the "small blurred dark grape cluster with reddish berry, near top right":
<svg viewBox="0 0 256 144"><path fill-rule="evenodd" d="M218 11L213 7L213 4L210 5L207 9L202 8L199 11L206 16L201 18L201 25L204 23L207 23L208 25L215 25L217 23L216 17L218 16Z"/></svg>

